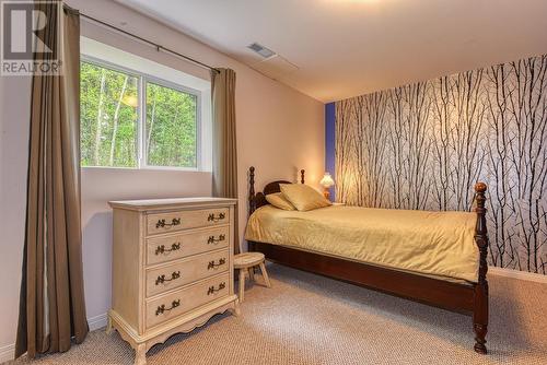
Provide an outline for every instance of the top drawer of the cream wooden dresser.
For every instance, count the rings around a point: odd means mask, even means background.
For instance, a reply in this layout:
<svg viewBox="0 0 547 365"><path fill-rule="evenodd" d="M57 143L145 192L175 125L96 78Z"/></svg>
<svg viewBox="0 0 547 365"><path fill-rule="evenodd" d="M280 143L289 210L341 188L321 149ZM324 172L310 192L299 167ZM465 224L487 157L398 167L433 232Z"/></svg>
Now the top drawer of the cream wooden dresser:
<svg viewBox="0 0 547 365"><path fill-rule="evenodd" d="M208 227L230 222L228 208L154 213L147 215L147 232L156 235L166 232Z"/></svg>

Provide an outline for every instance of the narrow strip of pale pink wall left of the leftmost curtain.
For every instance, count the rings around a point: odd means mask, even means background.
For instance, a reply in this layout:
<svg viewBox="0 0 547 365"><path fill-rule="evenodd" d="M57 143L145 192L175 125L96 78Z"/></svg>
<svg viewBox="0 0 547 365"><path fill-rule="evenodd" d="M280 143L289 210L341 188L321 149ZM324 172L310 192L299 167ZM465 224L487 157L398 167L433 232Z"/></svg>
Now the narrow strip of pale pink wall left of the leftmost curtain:
<svg viewBox="0 0 547 365"><path fill-rule="evenodd" d="M30 78L0 76L0 362L13 353L25 228Z"/></svg>

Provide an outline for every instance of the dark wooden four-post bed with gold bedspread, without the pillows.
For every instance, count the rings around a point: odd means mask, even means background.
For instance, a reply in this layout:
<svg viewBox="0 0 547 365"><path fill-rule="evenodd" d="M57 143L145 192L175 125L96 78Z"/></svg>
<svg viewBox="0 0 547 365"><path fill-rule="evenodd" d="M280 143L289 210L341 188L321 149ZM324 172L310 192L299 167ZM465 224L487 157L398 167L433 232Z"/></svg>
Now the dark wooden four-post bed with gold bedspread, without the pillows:
<svg viewBox="0 0 547 365"><path fill-rule="evenodd" d="M300 182L304 184L304 170ZM249 250L270 261L473 317L476 352L486 354L488 281L486 190L475 186L475 212L424 212L335 204L283 211L255 191L249 168ZM393 222L397 222L394 224Z"/></svg>

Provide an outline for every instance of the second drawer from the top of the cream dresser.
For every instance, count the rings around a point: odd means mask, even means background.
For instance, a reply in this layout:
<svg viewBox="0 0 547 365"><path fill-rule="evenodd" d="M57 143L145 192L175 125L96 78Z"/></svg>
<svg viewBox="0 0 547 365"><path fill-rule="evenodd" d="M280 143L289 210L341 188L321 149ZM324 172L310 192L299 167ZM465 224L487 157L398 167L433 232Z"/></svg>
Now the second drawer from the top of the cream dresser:
<svg viewBox="0 0 547 365"><path fill-rule="evenodd" d="M147 264L229 247L230 227L213 227L147 239Z"/></svg>

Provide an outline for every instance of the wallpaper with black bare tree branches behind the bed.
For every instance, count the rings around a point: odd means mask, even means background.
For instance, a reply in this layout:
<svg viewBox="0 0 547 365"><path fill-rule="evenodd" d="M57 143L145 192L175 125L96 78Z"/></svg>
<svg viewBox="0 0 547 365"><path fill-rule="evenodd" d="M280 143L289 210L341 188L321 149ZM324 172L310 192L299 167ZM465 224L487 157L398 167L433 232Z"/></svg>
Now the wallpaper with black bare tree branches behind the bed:
<svg viewBox="0 0 547 365"><path fill-rule="evenodd" d="M336 197L470 210L488 184L490 264L547 271L547 55L336 102Z"/></svg>

